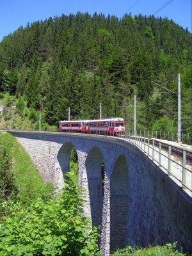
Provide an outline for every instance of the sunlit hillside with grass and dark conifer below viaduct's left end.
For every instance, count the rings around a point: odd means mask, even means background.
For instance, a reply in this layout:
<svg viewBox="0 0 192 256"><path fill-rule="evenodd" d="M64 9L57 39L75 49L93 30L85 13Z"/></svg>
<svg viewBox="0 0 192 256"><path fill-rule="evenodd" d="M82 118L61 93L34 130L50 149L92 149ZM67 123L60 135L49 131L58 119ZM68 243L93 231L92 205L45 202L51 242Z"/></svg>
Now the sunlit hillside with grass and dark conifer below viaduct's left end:
<svg viewBox="0 0 192 256"><path fill-rule="evenodd" d="M11 175L10 183L8 183L9 177L7 177L9 173ZM0 175L0 191L6 191L5 195L9 195L9 191L12 193L12 189L15 189L17 200L23 204L30 205L38 197L42 197L44 200L51 198L53 186L44 183L29 155L9 133L0 133ZM12 198L11 194L10 196ZM15 195L13 197L15 198ZM3 198L4 196L1 195L0 203L5 199L11 199L9 196Z"/></svg>

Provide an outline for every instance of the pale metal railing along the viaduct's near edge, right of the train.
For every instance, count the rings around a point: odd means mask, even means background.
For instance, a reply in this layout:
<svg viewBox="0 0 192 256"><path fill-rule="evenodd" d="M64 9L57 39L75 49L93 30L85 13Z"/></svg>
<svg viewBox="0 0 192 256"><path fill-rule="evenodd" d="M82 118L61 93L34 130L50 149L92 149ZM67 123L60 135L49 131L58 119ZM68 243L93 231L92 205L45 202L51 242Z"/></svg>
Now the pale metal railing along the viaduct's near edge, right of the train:
<svg viewBox="0 0 192 256"><path fill-rule="evenodd" d="M142 152L152 159L182 189L188 189L189 194L192 196L191 152L143 136L125 133L118 135L118 137L140 148Z"/></svg>

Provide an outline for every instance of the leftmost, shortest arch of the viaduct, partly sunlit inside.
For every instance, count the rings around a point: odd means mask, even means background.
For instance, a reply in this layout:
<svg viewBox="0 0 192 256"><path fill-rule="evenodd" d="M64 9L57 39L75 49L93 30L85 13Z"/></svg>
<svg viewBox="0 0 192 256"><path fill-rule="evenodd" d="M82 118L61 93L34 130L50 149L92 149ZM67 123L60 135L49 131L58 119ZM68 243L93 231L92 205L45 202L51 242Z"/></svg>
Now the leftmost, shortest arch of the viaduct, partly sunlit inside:
<svg viewBox="0 0 192 256"><path fill-rule="evenodd" d="M58 188L62 188L64 185L65 173L70 170L70 154L72 148L75 148L74 145L70 142L63 144L58 152L56 157L56 184Z"/></svg>

